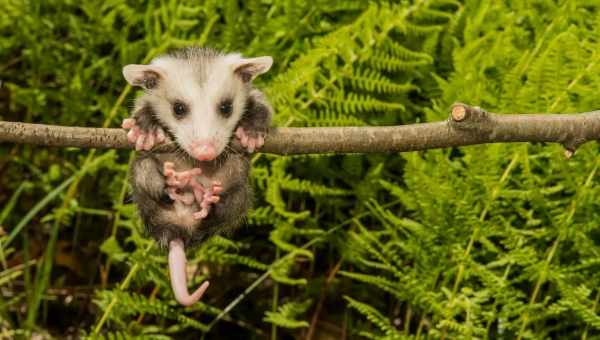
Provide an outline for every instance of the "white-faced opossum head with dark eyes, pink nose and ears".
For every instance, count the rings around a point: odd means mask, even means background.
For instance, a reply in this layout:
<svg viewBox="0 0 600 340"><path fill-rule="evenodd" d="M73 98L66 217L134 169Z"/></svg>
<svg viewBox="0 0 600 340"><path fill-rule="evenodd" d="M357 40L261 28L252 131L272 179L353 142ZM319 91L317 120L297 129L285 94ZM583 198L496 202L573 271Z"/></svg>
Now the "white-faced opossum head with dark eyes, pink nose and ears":
<svg viewBox="0 0 600 340"><path fill-rule="evenodd" d="M272 63L268 56L186 48L149 65L127 65L123 75L145 90L144 105L179 147L208 161L227 148L244 114L250 82Z"/></svg>

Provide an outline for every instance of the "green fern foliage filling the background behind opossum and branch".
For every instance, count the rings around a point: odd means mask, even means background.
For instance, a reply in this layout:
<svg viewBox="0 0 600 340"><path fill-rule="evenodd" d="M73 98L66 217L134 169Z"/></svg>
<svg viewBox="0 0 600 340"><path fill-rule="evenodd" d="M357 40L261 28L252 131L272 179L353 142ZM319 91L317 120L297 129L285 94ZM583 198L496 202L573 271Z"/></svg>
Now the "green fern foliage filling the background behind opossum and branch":
<svg viewBox="0 0 600 340"><path fill-rule="evenodd" d="M117 127L121 67L170 48L272 55L279 126L600 107L589 0L0 0L0 118ZM598 147L253 158L256 209L190 252L184 308L144 237L132 153L0 146L4 337L597 338ZM233 307L233 308L231 308Z"/></svg>

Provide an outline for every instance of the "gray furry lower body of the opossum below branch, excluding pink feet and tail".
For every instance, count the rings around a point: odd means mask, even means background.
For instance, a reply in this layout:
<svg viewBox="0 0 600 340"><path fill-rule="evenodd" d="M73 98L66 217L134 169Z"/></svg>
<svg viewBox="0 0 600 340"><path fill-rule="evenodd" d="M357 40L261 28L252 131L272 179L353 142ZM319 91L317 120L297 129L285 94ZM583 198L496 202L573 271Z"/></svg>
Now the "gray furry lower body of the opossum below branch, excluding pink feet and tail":
<svg viewBox="0 0 600 340"><path fill-rule="evenodd" d="M178 171L200 167L202 183L223 183L220 201L205 219L192 218L198 206L173 201L166 192L162 164L175 163ZM199 164L204 163L204 164ZM218 164L217 164L218 163ZM175 238L184 240L186 248L195 246L216 233L233 230L252 206L252 188L248 183L248 156L230 152L218 162L199 162L181 153L142 152L131 165L130 183L133 202L138 206L146 231L166 246ZM190 195L190 192L184 194Z"/></svg>

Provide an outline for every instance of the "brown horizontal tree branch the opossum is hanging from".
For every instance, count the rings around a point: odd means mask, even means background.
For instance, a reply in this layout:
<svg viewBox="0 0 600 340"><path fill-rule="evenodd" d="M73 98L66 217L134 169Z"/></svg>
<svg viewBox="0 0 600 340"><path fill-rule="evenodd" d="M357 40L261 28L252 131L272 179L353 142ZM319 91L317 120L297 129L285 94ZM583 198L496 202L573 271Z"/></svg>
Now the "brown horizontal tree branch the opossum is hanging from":
<svg viewBox="0 0 600 340"><path fill-rule="evenodd" d="M448 120L381 127L274 128L261 152L273 154L384 153L484 143L561 143L570 157L600 139L600 111L497 114L455 104ZM131 149L123 129L0 122L0 142L80 148Z"/></svg>

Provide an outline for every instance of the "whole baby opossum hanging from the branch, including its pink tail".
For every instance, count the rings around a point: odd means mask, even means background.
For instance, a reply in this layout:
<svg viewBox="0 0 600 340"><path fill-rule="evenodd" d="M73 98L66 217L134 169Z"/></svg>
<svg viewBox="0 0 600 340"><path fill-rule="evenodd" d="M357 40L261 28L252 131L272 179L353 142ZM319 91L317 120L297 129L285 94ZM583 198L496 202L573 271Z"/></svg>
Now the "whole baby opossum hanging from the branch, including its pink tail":
<svg viewBox="0 0 600 340"><path fill-rule="evenodd" d="M141 151L131 165L133 201L147 231L169 247L171 285L183 305L208 287L188 293L185 248L236 227L251 205L248 153L263 145L272 115L251 82L272 62L190 47L123 68L144 90L123 121ZM150 151L166 136L177 151Z"/></svg>

